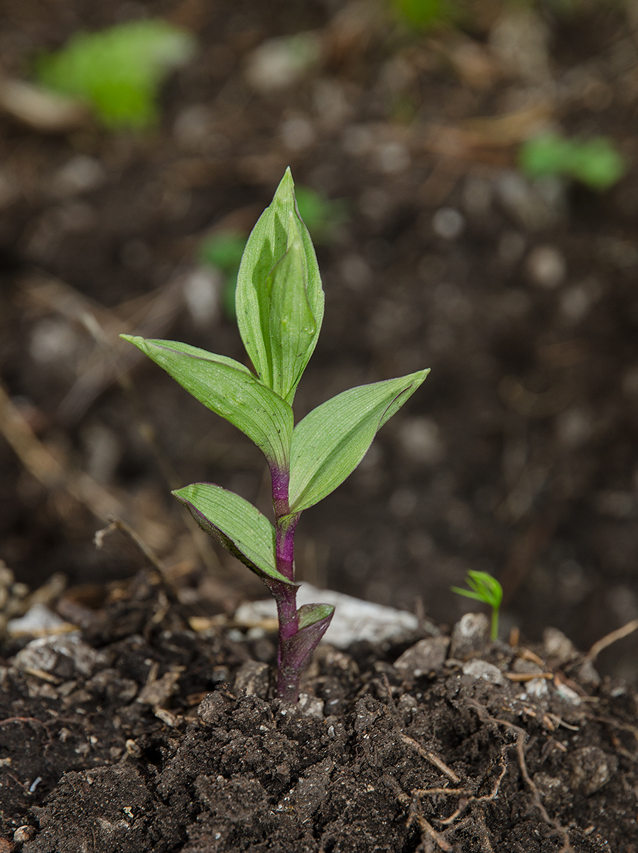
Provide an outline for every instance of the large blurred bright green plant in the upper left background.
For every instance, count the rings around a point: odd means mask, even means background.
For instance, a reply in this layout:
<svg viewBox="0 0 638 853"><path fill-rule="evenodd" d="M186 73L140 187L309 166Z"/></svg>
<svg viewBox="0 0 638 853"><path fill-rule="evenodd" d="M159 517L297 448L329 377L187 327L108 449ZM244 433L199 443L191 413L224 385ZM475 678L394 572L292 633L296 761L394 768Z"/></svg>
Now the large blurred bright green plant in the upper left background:
<svg viewBox="0 0 638 853"><path fill-rule="evenodd" d="M81 98L111 130L145 130L158 119L159 86L194 54L193 36L165 20L136 20L78 32L36 61L38 81Z"/></svg>

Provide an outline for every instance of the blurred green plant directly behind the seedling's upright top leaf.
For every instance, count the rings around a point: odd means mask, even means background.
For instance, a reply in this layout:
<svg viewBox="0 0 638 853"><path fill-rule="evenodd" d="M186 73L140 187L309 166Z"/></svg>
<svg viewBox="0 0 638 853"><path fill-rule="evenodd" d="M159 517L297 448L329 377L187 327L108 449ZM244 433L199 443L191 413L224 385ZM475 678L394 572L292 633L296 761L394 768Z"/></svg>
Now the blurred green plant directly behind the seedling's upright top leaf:
<svg viewBox="0 0 638 853"><path fill-rule="evenodd" d="M345 201L328 199L310 187L297 187L295 195L299 216L312 239L322 244L332 241L336 229L348 218ZM231 317L235 316L235 288L246 239L242 231L223 230L206 237L200 245L200 263L223 273L223 310Z"/></svg>

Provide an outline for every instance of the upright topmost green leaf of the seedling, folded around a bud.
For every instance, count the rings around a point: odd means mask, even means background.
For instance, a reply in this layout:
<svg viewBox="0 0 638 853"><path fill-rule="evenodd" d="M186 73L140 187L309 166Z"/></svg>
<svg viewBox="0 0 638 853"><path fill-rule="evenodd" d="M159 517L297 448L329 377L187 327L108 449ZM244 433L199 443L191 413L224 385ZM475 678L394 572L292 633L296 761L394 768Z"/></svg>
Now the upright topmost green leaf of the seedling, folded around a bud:
<svg viewBox="0 0 638 853"><path fill-rule="evenodd" d="M235 296L246 352L259 378L287 403L315 349L323 301L315 250L287 169L248 237Z"/></svg>

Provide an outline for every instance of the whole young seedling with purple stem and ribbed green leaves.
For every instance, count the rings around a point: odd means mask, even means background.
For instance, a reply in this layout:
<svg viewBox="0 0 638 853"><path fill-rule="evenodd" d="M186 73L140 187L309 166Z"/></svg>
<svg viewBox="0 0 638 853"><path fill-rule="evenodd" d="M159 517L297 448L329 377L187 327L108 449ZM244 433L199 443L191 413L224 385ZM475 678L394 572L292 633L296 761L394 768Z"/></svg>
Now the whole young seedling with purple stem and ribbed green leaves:
<svg viewBox="0 0 638 853"><path fill-rule="evenodd" d="M254 373L188 344L122 337L245 432L266 457L274 525L251 503L213 483L173 494L270 589L279 616L277 694L296 702L302 670L334 612L327 604L297 608L293 548L299 516L343 483L428 371L351 388L294 425L294 394L319 336L324 296L290 170L248 238L235 299Z"/></svg>

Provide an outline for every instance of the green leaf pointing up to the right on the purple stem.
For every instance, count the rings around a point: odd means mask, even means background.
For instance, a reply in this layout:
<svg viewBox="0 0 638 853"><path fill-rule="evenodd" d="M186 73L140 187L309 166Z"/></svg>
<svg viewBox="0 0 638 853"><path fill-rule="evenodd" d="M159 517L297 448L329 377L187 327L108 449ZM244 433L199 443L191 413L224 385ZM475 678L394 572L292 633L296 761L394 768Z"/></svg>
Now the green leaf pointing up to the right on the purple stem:
<svg viewBox="0 0 638 853"><path fill-rule="evenodd" d="M341 485L376 432L395 414L429 370L351 388L306 415L294 428L290 451L290 510L299 513Z"/></svg>

